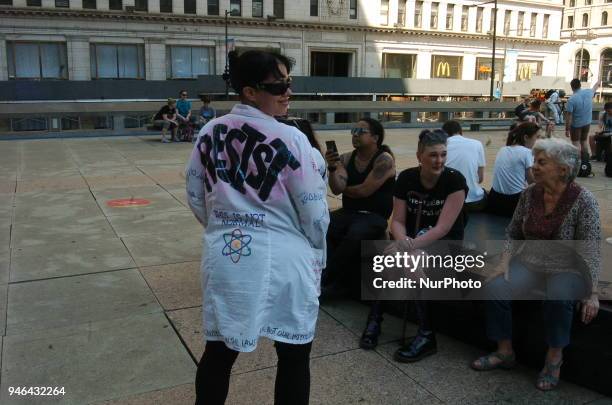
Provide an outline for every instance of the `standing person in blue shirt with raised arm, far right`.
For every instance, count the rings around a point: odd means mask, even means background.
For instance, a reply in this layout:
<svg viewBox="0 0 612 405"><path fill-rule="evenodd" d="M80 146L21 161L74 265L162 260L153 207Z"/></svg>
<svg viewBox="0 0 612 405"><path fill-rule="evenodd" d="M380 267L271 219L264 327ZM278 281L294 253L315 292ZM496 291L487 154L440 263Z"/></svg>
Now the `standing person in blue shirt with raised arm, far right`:
<svg viewBox="0 0 612 405"><path fill-rule="evenodd" d="M589 160L587 140L593 121L593 97L600 83L597 81L592 88L582 89L579 79L570 82L574 94L565 107L565 136L578 148L583 161Z"/></svg>

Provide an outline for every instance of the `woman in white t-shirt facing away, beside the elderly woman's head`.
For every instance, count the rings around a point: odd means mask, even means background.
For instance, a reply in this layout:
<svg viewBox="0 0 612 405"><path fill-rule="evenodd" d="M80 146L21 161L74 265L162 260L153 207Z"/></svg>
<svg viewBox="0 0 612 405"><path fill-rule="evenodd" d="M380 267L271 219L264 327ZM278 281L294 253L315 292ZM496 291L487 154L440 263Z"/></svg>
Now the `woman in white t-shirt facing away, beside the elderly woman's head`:
<svg viewBox="0 0 612 405"><path fill-rule="evenodd" d="M488 212L511 218L521 193L533 183L531 148L538 139L540 127L525 122L514 127L495 157L493 183L489 193Z"/></svg>

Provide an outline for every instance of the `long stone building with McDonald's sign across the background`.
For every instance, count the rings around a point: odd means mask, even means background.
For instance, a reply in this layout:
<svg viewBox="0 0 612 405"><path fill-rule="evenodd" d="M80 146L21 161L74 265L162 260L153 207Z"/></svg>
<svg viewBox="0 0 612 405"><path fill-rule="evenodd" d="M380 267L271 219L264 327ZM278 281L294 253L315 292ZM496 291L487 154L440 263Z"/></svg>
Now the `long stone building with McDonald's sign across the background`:
<svg viewBox="0 0 612 405"><path fill-rule="evenodd" d="M489 80L493 14L464 0L0 0L0 81L219 75L226 28L230 48L281 51L296 76ZM569 75L562 17L561 0L500 0L495 80Z"/></svg>

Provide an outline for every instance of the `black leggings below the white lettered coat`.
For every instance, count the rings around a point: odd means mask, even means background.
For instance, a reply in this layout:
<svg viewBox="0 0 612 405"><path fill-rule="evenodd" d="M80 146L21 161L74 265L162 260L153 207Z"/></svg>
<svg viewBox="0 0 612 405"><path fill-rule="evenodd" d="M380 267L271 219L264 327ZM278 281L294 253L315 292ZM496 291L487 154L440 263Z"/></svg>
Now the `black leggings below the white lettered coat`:
<svg viewBox="0 0 612 405"><path fill-rule="evenodd" d="M274 404L307 405L310 396L311 343L274 342L278 363ZM206 342L196 373L196 405L222 405L229 390L230 373L238 358L235 350L219 341Z"/></svg>

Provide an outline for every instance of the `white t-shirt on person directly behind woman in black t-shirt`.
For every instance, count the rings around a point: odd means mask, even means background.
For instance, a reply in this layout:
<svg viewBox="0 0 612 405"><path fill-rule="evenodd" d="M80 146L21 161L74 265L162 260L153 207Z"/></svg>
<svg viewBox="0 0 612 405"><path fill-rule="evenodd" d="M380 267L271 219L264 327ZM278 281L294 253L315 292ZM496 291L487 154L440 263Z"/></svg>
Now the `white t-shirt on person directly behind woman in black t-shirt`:
<svg viewBox="0 0 612 405"><path fill-rule="evenodd" d="M468 185L469 191L465 202L482 200L484 190L478 185L478 168L486 165L482 143L454 135L448 138L446 148L446 166L461 173Z"/></svg>

